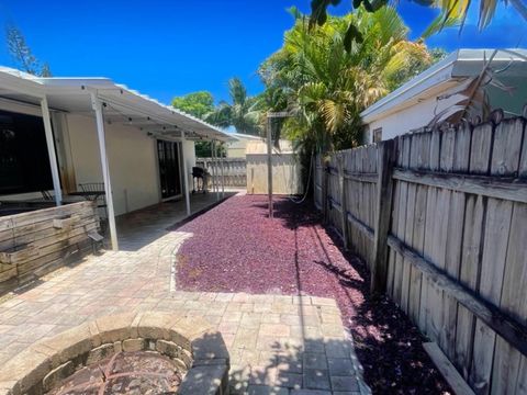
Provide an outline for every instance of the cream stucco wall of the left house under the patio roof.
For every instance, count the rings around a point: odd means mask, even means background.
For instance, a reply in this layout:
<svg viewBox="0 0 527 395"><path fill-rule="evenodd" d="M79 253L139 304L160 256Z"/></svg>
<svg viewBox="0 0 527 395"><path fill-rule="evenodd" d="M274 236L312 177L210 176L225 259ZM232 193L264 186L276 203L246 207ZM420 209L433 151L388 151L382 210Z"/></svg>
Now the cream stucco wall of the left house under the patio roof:
<svg viewBox="0 0 527 395"><path fill-rule="evenodd" d="M42 116L41 110L16 103L0 102L0 110ZM57 115L57 116L55 116ZM64 176L70 174L70 190L79 183L102 182L102 170L94 117L78 114L53 115L60 137L56 145L63 189ZM105 124L106 153L113 189L115 214L121 215L160 202L156 138L136 127ZM64 147L63 147L64 145ZM192 190L192 167L195 166L194 142L182 144L187 162L189 191ZM67 156L67 160L66 157ZM64 166L63 166L64 165ZM181 170L181 180L182 178ZM42 198L40 192L0 196L2 200Z"/></svg>

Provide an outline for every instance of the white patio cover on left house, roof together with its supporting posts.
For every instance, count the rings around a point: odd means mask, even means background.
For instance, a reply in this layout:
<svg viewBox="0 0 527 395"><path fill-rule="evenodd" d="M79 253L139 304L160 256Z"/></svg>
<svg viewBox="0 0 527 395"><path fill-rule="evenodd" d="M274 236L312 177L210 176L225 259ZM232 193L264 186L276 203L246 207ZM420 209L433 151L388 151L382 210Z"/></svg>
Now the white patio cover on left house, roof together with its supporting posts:
<svg viewBox="0 0 527 395"><path fill-rule="evenodd" d="M42 78L12 68L0 67L0 100L14 101L41 109L57 205L61 204L63 199L49 111L94 115L108 203L110 236L114 250L119 249L119 245L104 138L105 124L123 123L150 133L153 137L211 140L214 151L216 143L233 139L232 136L215 126L175 108L161 104L108 78ZM187 213L190 215L188 171L184 158L182 162ZM215 190L217 199L220 194L218 185L215 185Z"/></svg>

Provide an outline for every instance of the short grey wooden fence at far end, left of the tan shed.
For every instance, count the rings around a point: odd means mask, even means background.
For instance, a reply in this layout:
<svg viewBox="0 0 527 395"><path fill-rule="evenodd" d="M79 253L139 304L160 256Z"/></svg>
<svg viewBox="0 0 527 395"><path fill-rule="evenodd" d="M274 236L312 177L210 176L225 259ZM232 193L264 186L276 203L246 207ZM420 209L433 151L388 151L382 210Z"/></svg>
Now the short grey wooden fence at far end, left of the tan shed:
<svg viewBox="0 0 527 395"><path fill-rule="evenodd" d="M222 182L222 163L223 161L223 180L225 187L246 187L247 185L247 161L245 158L222 158L214 167L212 158L197 158L195 166L208 169L211 177L209 183L212 185L212 178L216 177L218 184ZM215 176L214 176L215 174ZM211 187L210 187L211 188Z"/></svg>

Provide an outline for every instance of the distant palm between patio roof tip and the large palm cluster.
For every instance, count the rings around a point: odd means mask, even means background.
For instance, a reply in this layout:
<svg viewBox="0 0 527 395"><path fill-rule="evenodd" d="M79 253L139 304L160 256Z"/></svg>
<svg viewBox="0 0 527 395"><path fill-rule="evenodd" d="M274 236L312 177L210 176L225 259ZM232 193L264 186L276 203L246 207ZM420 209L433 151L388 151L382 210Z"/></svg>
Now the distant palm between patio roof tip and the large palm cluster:
<svg viewBox="0 0 527 395"><path fill-rule="evenodd" d="M222 127L234 126L236 132L258 135L259 112L257 100L247 95L247 90L239 78L228 80L228 93L232 103L225 101L205 115L205 121Z"/></svg>

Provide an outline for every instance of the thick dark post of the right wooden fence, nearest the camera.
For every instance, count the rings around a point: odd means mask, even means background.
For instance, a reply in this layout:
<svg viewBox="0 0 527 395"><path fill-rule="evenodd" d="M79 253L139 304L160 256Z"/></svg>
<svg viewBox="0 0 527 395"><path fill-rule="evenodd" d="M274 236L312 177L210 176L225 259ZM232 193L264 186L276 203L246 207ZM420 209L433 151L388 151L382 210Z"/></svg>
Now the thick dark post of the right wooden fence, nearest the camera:
<svg viewBox="0 0 527 395"><path fill-rule="evenodd" d="M392 215L393 166L396 158L394 139L379 143L377 151L377 217L373 239L373 264L371 267L371 293L381 294L386 290L388 234Z"/></svg>

